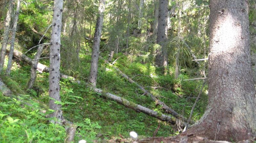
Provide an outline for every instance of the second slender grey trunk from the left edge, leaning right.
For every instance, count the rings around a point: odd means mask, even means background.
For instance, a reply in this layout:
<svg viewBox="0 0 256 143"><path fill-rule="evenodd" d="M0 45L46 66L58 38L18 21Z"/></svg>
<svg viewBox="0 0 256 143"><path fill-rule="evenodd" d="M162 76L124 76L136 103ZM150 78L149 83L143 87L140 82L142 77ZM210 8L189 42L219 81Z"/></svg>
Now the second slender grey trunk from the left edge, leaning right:
<svg viewBox="0 0 256 143"><path fill-rule="evenodd" d="M16 8L15 16L14 16L14 23L13 23L13 27L12 27L12 39L11 39L11 47L10 47L10 52L9 52L8 64L7 64L7 68L6 68L6 75L10 75L11 68L12 68L12 55L13 55L13 50L14 50L17 24L18 24L18 19L19 19L19 14L20 14L20 3L21 3L21 1L18 0L17 8Z"/></svg>

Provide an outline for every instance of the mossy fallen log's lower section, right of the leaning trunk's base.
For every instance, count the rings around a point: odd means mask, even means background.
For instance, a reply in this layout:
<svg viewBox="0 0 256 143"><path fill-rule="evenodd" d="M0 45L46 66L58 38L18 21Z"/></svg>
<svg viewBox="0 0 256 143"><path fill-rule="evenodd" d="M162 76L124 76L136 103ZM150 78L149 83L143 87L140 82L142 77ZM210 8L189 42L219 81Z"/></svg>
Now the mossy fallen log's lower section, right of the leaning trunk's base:
<svg viewBox="0 0 256 143"><path fill-rule="evenodd" d="M128 101L127 99L125 98L122 98L122 97L119 97L119 96L116 96L116 95L113 95L111 93L107 93L107 92L104 92L102 89L98 89L94 86L89 86L93 91L97 92L97 93L101 93L101 96L105 97L105 98L108 98L108 99L111 99L119 104L122 104L124 105L125 107L127 108L130 108L132 110L135 110L135 111L139 111L139 112L143 112L147 115L150 115L152 117L155 117L155 118L158 118L159 120L161 121L167 121L171 124L176 124L176 120L175 118L172 118L168 115L164 115L162 113L159 113L157 111L153 111L149 108L146 108L144 106L141 106L139 104L136 104L136 103L133 103L131 101Z"/></svg>

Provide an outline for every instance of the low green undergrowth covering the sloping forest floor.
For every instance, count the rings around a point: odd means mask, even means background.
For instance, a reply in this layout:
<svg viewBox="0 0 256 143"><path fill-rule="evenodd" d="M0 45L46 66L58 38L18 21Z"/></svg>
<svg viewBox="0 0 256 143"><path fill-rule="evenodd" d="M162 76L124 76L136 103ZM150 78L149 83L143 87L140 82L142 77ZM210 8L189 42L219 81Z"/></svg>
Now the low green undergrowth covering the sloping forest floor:
<svg viewBox="0 0 256 143"><path fill-rule="evenodd" d="M106 59L107 56L104 55L103 53L103 57ZM120 56L122 55L114 55L113 61ZM42 61L42 63L47 64L47 61ZM90 55L82 55L80 64L78 69L75 70L62 69L62 73L78 78L82 81L82 84L72 83L65 79L61 79L60 82L62 102L59 104L62 104L64 117L78 124L75 140L86 139L88 142L92 142L95 139L106 140L120 138L121 136L127 138L130 131L135 131L142 137L150 137L159 123L161 127L157 136L171 136L177 133L177 126L169 125L144 113L128 109L101 97L101 94L90 91L83 84L84 81L87 81L89 75ZM141 63L140 60L136 61L136 58L135 61L130 61L129 56L120 57L114 66L120 68L123 73L145 87L169 107L186 117L189 116L202 82L182 81L180 79L189 78L188 75L183 74L179 75L178 80L175 80L173 67L169 67L167 75L161 75L151 63ZM154 111L165 113L161 106L156 106L150 97L146 96L135 84L118 75L103 60L99 61L98 71L97 88ZM25 93L24 89L29 81L29 72L30 67L27 64L14 62L10 78L6 77L3 80L10 89L18 91L15 93L27 94L33 100L38 100L47 105L49 103L49 74L38 73L35 86ZM203 103L206 98L204 94L202 97L194 110L194 120L198 120L204 111L205 105ZM11 139L17 138L19 139L18 142L29 142L30 139L33 139L33 142L63 142L63 139L65 139L64 128L48 123L45 114L39 112L39 110L22 107L20 104L15 104L14 99L2 95L0 102L3 104L0 113L3 114L1 125L4 127L4 130L1 130L2 139L0 140L10 142ZM11 106L15 107L15 110ZM30 114L33 114L33 116ZM11 123L12 119L13 122ZM21 137L17 137L17 134L21 134Z"/></svg>

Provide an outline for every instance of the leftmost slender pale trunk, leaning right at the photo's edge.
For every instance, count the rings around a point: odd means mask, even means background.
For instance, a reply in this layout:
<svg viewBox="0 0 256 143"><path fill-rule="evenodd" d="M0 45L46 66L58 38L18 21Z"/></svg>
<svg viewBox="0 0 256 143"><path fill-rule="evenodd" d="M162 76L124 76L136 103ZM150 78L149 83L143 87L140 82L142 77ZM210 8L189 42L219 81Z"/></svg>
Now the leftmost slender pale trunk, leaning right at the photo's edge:
<svg viewBox="0 0 256 143"><path fill-rule="evenodd" d="M9 9L7 11L5 23L4 23L4 36L3 36L2 49L1 49L1 53L0 53L0 72L2 72L2 70L4 68L6 46L8 43L8 36L9 36L10 25L11 25L12 8L13 8L13 0L10 0L9 1Z"/></svg>

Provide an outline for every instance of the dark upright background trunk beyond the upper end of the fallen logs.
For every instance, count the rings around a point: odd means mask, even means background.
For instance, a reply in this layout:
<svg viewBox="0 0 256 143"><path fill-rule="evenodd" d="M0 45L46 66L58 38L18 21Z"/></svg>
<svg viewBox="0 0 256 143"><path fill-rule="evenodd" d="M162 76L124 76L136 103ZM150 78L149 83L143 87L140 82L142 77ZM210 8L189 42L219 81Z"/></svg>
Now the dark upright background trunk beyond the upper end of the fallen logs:
<svg viewBox="0 0 256 143"><path fill-rule="evenodd" d="M157 44L161 49L157 51L155 64L158 67L166 67L168 64L168 53L166 47L167 41L167 18L168 18L168 0L159 0L158 8L158 27L157 27Z"/></svg>

